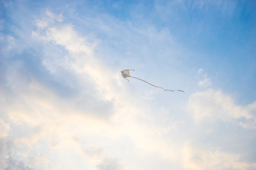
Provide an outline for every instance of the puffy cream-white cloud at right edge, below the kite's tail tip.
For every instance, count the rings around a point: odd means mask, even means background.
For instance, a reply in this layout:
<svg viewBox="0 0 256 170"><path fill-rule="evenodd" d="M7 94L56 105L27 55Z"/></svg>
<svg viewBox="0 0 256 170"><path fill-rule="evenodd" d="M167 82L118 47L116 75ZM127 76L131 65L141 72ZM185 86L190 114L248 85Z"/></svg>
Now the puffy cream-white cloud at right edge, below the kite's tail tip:
<svg viewBox="0 0 256 170"><path fill-rule="evenodd" d="M252 129L256 128L255 105L256 102L239 106L231 96L213 89L192 94L188 99L188 110L197 122L222 120Z"/></svg>

